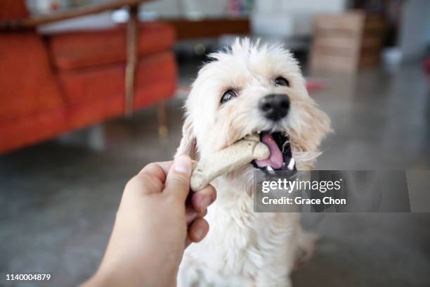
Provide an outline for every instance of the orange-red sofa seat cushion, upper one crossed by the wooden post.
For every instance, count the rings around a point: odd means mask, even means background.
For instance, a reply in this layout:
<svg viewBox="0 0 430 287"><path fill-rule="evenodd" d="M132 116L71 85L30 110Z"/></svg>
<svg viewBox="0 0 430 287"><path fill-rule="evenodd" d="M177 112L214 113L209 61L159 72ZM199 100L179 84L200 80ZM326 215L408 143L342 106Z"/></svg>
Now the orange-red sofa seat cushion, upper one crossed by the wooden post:
<svg viewBox="0 0 430 287"><path fill-rule="evenodd" d="M174 29L166 23L141 23L138 55L166 51L174 44ZM72 70L95 65L124 63L126 27L111 30L68 32L48 37L54 65L58 70Z"/></svg>

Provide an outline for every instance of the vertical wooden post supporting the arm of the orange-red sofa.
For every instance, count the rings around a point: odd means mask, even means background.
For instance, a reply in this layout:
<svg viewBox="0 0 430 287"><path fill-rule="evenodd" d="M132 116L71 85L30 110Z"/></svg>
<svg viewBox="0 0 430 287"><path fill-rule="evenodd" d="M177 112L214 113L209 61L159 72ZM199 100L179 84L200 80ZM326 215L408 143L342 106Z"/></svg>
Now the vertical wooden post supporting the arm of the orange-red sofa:
<svg viewBox="0 0 430 287"><path fill-rule="evenodd" d="M134 103L134 79L136 77L136 65L138 62L138 6L130 6L130 19L127 23L126 35L126 75L125 75L125 114L133 113Z"/></svg>

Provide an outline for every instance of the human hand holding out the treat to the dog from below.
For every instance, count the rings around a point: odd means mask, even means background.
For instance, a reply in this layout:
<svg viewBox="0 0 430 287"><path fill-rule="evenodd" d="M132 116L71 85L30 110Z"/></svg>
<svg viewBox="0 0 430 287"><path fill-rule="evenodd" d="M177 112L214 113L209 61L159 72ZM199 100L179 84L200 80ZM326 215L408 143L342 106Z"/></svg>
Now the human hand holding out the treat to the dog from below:
<svg viewBox="0 0 430 287"><path fill-rule="evenodd" d="M184 249L209 230L202 217L216 198L207 186L186 200L191 170L181 155L145 166L126 184L103 261L84 286L175 285Z"/></svg>

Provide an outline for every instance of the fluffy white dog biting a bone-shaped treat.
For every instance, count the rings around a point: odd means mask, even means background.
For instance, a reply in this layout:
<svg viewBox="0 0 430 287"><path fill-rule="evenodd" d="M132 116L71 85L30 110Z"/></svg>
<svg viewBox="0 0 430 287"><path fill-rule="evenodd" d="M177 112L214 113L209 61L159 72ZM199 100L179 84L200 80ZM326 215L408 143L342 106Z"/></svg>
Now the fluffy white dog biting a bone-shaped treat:
<svg viewBox="0 0 430 287"><path fill-rule="evenodd" d="M209 59L185 101L176 156L200 160L256 133L276 144L268 160L211 182L217 199L205 217L209 233L185 250L178 286L291 286L313 236L301 229L298 213L253 212L254 169L313 169L330 119L308 96L297 60L282 45L237 38Z"/></svg>

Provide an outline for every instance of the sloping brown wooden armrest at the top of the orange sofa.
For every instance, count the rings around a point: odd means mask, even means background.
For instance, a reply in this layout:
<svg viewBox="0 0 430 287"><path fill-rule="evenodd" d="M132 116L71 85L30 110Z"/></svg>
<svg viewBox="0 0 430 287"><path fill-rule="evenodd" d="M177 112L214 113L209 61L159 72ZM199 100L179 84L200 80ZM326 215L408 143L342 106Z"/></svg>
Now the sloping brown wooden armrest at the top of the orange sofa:
<svg viewBox="0 0 430 287"><path fill-rule="evenodd" d="M67 20L70 18L76 18L84 15L91 15L103 11L115 10L124 6L137 6L138 4L148 1L150 0L115 0L103 4L86 5L82 8L75 8L71 11L67 11L64 13L55 13L52 15L41 15L30 18L22 18L18 20L2 21L0 22L0 31L33 29L34 27L37 27L38 25L42 24L53 23L60 20Z"/></svg>

